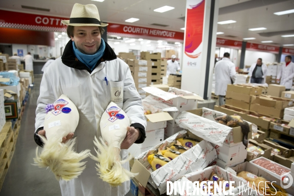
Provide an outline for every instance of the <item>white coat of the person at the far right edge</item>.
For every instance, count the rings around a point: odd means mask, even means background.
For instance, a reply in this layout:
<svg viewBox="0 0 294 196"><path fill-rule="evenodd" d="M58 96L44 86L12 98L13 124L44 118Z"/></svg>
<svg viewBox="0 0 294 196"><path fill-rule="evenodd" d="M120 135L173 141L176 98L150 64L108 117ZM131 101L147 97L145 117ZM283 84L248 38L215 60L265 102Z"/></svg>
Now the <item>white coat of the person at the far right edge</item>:
<svg viewBox="0 0 294 196"><path fill-rule="evenodd" d="M286 67L284 63L282 65L281 71L277 75L277 79L280 79L280 85L286 87L286 89L291 89L293 86L293 77L294 77L294 63L290 62L290 64Z"/></svg>

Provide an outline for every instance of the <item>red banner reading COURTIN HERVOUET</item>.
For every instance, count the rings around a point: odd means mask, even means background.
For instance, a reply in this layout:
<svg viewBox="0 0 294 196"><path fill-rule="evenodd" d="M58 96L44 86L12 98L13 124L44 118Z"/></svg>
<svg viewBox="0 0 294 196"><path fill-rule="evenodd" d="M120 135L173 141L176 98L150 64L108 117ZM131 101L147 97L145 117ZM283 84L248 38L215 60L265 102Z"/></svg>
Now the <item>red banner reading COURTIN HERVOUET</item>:
<svg viewBox="0 0 294 196"><path fill-rule="evenodd" d="M107 26L108 35L118 35L131 38L162 39L166 41L183 42L184 32L147 28L132 25L121 25L109 23Z"/></svg>

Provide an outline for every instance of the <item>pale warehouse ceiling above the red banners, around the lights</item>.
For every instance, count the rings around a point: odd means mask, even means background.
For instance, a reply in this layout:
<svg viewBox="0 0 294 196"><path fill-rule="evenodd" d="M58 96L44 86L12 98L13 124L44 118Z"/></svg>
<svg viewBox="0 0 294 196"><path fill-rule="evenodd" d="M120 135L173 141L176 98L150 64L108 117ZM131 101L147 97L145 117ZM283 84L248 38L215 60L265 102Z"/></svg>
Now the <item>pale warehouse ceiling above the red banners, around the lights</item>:
<svg viewBox="0 0 294 196"><path fill-rule="evenodd" d="M185 0L1 0L0 8L11 11L38 13L69 18L73 4L96 4L100 19L104 22L182 31L185 17ZM165 5L175 9L158 13L153 10ZM220 0L218 21L234 20L236 23L218 25L218 37L243 40L254 37L250 42L273 41L277 45L294 44L294 37L281 37L294 31L294 13L277 16L274 12L294 9L294 0ZM138 18L135 23L124 22ZM156 24L156 25L152 25ZM166 27L160 25L167 25ZM265 27L266 30L249 31L248 28ZM182 31L183 32L183 31ZM270 45L270 44L269 44ZM290 47L294 48L294 47Z"/></svg>

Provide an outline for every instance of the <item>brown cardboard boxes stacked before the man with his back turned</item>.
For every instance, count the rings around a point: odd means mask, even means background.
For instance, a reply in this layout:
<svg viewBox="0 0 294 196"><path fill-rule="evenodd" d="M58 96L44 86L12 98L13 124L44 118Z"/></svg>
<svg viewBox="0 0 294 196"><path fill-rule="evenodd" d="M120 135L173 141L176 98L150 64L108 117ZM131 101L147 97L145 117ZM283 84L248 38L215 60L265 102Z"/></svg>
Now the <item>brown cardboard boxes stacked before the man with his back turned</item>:
<svg viewBox="0 0 294 196"><path fill-rule="evenodd" d="M226 104L249 110L252 95L262 95L262 88L228 84L225 96Z"/></svg>

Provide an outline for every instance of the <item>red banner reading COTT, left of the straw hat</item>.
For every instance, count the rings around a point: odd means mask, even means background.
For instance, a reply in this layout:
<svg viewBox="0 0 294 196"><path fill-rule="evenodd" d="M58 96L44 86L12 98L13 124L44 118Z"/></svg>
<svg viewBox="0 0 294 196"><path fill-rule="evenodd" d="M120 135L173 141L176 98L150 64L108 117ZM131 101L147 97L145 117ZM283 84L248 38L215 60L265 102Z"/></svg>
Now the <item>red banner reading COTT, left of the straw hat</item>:
<svg viewBox="0 0 294 196"><path fill-rule="evenodd" d="M63 25L62 20L69 19L0 10L0 27L6 28L66 32L67 25Z"/></svg>

